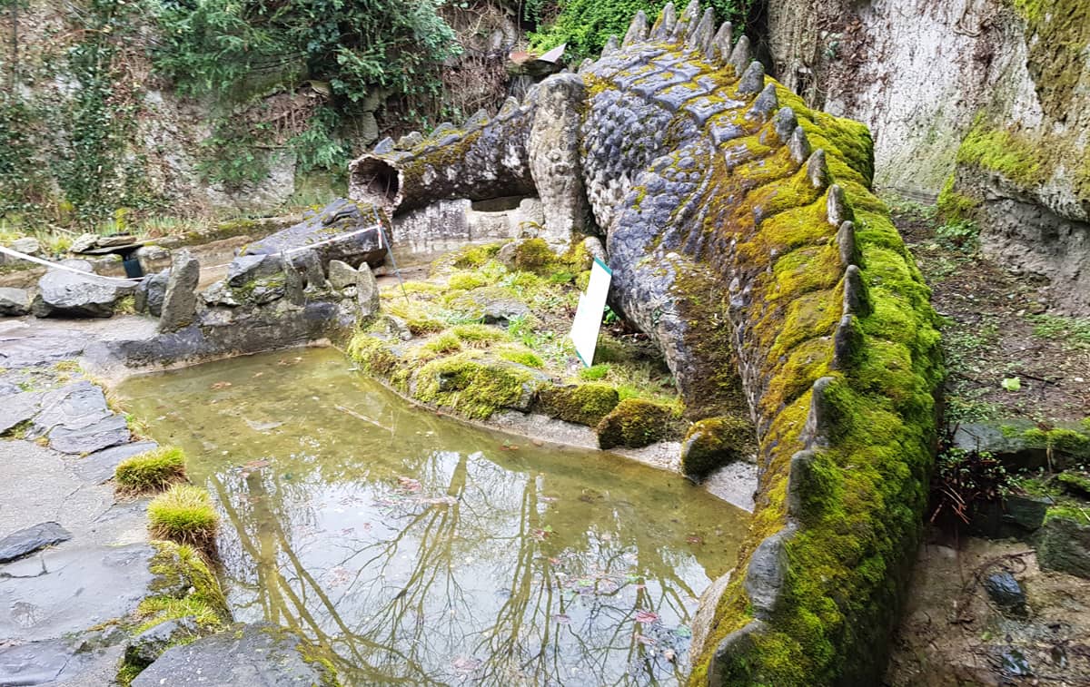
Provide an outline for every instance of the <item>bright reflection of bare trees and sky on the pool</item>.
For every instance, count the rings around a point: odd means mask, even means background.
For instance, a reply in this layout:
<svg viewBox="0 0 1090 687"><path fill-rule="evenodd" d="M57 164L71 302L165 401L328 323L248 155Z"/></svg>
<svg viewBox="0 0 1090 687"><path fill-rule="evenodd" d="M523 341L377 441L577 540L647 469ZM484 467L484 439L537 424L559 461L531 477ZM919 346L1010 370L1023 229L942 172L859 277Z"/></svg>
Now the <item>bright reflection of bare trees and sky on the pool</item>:
<svg viewBox="0 0 1090 687"><path fill-rule="evenodd" d="M322 533L315 493L328 484L311 476L211 478L233 528L225 566L242 611L259 609L332 649L349 683L655 685L682 676L664 650L683 655L687 640L673 630L688 622L694 594L669 561L674 549L625 541L618 519L627 514L616 505L586 504L582 531L557 537L543 480L480 454L433 452L414 463L421 484L443 487L364 484L382 519L371 536ZM348 487L346 500L359 499ZM643 579L649 569L655 579ZM662 619L638 623L639 611Z"/></svg>

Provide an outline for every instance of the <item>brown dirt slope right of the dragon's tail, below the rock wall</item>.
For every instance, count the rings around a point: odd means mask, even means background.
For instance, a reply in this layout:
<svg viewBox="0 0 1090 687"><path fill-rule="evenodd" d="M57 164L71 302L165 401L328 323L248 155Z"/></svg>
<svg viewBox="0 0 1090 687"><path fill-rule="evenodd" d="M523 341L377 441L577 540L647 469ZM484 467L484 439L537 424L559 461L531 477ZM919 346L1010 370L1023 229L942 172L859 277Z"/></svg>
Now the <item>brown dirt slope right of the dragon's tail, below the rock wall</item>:
<svg viewBox="0 0 1090 687"><path fill-rule="evenodd" d="M894 221L944 317L948 420L1090 416L1090 320L1052 315L1043 280L981 257L971 237L958 245L930 208L895 205Z"/></svg>

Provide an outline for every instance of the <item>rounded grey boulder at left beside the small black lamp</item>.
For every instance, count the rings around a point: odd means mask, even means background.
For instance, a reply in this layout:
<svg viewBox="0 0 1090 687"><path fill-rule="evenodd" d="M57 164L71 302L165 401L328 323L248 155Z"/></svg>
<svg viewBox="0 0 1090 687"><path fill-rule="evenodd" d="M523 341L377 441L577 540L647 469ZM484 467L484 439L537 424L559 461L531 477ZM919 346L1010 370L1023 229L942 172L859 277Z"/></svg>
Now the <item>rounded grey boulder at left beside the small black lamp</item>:
<svg viewBox="0 0 1090 687"><path fill-rule="evenodd" d="M86 260L65 260L62 265L92 271ZM112 317L118 300L135 290L133 282L49 270L38 280L38 295L31 311L36 317Z"/></svg>

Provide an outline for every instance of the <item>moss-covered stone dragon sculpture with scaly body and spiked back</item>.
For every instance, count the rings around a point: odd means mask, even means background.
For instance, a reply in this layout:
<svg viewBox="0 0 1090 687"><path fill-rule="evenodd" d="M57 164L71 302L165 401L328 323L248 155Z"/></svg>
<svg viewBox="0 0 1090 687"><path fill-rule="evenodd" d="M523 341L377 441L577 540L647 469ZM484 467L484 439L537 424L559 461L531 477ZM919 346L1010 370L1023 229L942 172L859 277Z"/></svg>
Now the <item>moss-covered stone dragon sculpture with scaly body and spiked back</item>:
<svg viewBox="0 0 1090 687"><path fill-rule="evenodd" d="M692 684L879 684L919 540L942 381L930 292L870 192L862 124L808 108L692 2L641 12L523 102L386 139L353 198L536 194L605 237L616 306L693 419L740 390L760 488ZM726 581L726 580L725 580Z"/></svg>

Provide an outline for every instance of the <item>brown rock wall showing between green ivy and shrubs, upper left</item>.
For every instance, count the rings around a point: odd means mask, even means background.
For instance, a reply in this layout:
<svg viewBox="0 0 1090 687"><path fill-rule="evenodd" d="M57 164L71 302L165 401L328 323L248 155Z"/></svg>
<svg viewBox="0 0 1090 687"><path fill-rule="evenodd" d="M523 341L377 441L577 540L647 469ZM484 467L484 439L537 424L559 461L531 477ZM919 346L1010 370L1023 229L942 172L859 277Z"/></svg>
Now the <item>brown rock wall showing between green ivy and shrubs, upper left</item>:
<svg viewBox="0 0 1090 687"><path fill-rule="evenodd" d="M499 2L469 9L445 8L444 17L455 27L467 54L447 65L449 83L441 105L477 107L474 103L479 100L487 100L489 107L497 103L496 89L502 91L506 82L505 56L519 38L511 13L513 10L505 10ZM44 188L33 194L41 197L34 200L50 219L63 220L65 213L72 212L72 205L80 209L80 200L65 195L64 168L58 160L86 155L99 145L80 139L80 123L74 121L78 114L72 114L85 87L71 54L82 49L78 41L89 30L89 14L78 0L66 4L29 0L20 3L16 38L11 40L12 15L7 9L0 12L0 83L5 90L9 88L10 65L17 61L20 99L36 113L28 136L35 168L46 177ZM330 99L327 88L312 87L306 81L305 64L286 59L275 69L254 72L239 89L245 95L231 95L238 103L186 97L159 77L150 63L148 54L158 30L154 20L142 15L123 30L118 34L124 36L120 41L123 45L110 68L112 81L106 108L110 119L123 123L109 134L111 163L97 171L109 180L105 195L116 207L164 208L177 214L259 213L280 208L296 195L298 176L303 170L289 139L304 132L316 107ZM487 75L481 73L485 68ZM383 119L387 96L385 90L376 89L354 105L351 121L344 126L351 148L363 149L375 143L386 127L403 125L397 119L400 103L395 103L393 115L386 118L389 121ZM225 110L232 113L229 119L243 124L242 128L249 124L257 132L256 147L246 147L244 152L253 156L254 168L267 169L262 179L225 184L209 181L209 175L202 172L202 162L209 152L202 143L213 136L231 138L209 125L222 118ZM0 125L4 123L0 120ZM336 195L328 188L332 180L325 174L308 175L306 181L301 195ZM311 188L313 185L316 187ZM302 200L307 201L310 198Z"/></svg>

